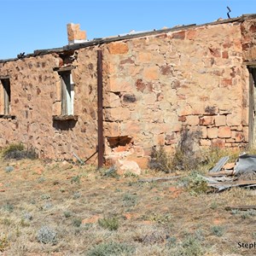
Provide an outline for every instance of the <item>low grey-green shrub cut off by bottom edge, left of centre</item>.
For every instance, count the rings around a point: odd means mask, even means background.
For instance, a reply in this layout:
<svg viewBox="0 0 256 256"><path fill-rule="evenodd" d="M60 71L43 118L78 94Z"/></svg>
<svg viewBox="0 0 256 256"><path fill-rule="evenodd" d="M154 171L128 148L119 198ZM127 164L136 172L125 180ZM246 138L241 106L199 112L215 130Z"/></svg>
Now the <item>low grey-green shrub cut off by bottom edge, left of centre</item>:
<svg viewBox="0 0 256 256"><path fill-rule="evenodd" d="M120 243L116 241L103 242L96 245L85 253L86 256L120 256L120 255L133 255L135 253L135 247L126 243Z"/></svg>

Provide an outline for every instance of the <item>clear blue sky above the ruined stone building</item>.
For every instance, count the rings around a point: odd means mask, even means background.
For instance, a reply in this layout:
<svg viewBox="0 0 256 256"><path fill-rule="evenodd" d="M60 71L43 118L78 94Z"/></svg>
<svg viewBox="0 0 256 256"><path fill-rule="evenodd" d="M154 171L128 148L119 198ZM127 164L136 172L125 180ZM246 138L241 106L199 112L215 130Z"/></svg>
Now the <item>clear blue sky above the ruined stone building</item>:
<svg viewBox="0 0 256 256"><path fill-rule="evenodd" d="M203 24L256 13L255 0L0 0L0 59L67 44L67 23L87 38Z"/></svg>

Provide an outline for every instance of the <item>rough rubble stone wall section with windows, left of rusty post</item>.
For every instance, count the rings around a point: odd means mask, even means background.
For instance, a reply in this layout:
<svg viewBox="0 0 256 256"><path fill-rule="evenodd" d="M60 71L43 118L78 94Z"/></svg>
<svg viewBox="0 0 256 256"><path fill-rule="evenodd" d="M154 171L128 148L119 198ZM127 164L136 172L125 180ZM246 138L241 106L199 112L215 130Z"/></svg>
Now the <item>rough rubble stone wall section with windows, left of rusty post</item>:
<svg viewBox="0 0 256 256"><path fill-rule="evenodd" d="M75 121L53 121L61 114L60 77L55 67L65 65L63 56L42 55L1 63L0 75L9 75L11 115L1 119L0 145L24 143L40 157L87 158L96 151L96 50L79 49L73 61Z"/></svg>

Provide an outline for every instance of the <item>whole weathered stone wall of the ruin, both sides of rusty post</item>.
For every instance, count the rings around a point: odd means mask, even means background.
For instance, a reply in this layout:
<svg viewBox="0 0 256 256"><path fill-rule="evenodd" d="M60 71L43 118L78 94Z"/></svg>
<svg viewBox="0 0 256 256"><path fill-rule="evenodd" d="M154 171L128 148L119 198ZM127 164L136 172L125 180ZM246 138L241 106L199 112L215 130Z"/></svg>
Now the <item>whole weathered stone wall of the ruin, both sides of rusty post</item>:
<svg viewBox="0 0 256 256"><path fill-rule="evenodd" d="M87 158L96 151L96 50L103 55L105 158L146 166L154 145L172 150L183 126L201 130L202 147L248 143L249 73L256 61L256 17L179 27L79 44L2 61L10 114L0 145L22 142L42 157ZM89 46L88 46L89 45ZM68 50L67 50L68 49ZM73 58L75 55L75 58ZM74 113L61 116L58 67L72 65ZM2 108L0 108L2 109Z"/></svg>

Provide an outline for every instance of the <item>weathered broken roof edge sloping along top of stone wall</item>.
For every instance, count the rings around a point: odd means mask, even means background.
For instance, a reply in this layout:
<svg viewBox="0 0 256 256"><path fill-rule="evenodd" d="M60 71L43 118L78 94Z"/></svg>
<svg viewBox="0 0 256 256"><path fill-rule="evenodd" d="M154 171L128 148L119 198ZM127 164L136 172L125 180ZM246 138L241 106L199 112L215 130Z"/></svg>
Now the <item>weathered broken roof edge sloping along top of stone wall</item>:
<svg viewBox="0 0 256 256"><path fill-rule="evenodd" d="M139 33L133 33L133 34L127 34L125 36L116 36L116 37L108 37L108 38L96 38L91 41L81 43L81 44L72 44L72 45L65 45L60 48L52 48L52 49L36 49L32 54L27 54L22 57L23 58L29 58L29 57L34 57L38 55L47 55L47 54L52 54L52 53L61 53L65 52L67 50L75 50L75 49L82 49L86 47L90 47L93 45L101 45L101 44L108 44L116 41L121 41L121 40L127 40L131 38L143 38L143 37L148 37L148 36L153 36L161 33L166 33L166 32L175 32L175 31L183 31L186 30L190 27L201 27L201 26L214 26L218 24L225 24L225 23L233 23L236 21L242 22L244 20L250 20L256 18L256 14L250 14L250 15L241 15L236 18L231 18L231 19L224 19L224 20L217 20L217 21L212 21L209 23L204 23L200 25L196 24L190 24L190 25L183 25L183 26L173 26L170 28L165 28L165 29L160 29L160 30L153 30L153 31L148 31L148 32L139 32ZM11 59L5 59L5 60L0 60L0 63L4 62L9 62L9 61L17 61L20 60L20 58L11 58Z"/></svg>

